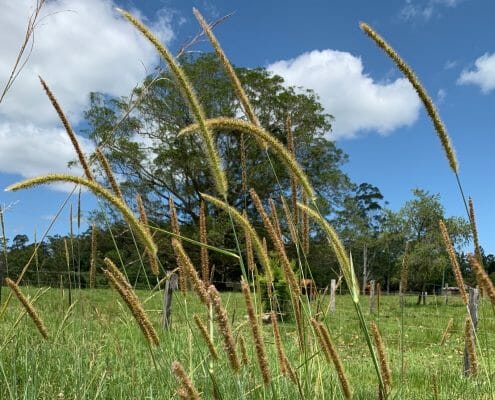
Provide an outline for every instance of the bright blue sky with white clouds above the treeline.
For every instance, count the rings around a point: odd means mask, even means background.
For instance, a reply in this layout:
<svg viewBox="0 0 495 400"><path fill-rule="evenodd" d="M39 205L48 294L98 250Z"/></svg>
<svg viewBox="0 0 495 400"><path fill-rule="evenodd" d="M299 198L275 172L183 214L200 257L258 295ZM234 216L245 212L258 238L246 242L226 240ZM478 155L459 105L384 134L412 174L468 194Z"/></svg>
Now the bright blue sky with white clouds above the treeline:
<svg viewBox="0 0 495 400"><path fill-rule="evenodd" d="M0 0L0 89L22 43L35 0ZM30 58L0 103L0 187L49 172L67 172L73 148L44 95L51 87L85 151L81 134L89 93L128 95L159 62L153 48L115 11L142 18L176 52L198 32L196 7L215 28L231 62L311 88L334 116L328 138L349 155L345 172L376 185L398 210L411 190L438 193L447 216L465 216L455 176L410 84L359 29L370 24L413 67L439 108L474 201L481 245L495 253L492 154L495 149L495 42L492 0L48 0ZM210 51L200 42L190 51ZM71 173L80 174L78 168ZM0 192L7 236L65 233L67 185ZM81 196L84 216L96 207ZM75 211L74 211L75 212Z"/></svg>

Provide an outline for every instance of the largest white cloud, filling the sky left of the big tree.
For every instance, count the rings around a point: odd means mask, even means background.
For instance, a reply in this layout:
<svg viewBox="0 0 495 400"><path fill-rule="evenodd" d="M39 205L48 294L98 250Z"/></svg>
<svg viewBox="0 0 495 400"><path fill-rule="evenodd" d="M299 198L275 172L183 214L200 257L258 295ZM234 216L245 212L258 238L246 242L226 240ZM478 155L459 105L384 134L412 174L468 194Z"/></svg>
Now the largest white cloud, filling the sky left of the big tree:
<svg viewBox="0 0 495 400"><path fill-rule="evenodd" d="M35 3L16 0L2 7L2 89ZM71 123L77 125L89 92L127 95L158 62L152 46L116 12L110 0L49 1L42 16L30 58L0 104L0 172L24 177L66 170L67 162L74 158L38 75L53 90ZM165 42L173 38L166 10L146 22ZM80 140L91 148L88 141Z"/></svg>

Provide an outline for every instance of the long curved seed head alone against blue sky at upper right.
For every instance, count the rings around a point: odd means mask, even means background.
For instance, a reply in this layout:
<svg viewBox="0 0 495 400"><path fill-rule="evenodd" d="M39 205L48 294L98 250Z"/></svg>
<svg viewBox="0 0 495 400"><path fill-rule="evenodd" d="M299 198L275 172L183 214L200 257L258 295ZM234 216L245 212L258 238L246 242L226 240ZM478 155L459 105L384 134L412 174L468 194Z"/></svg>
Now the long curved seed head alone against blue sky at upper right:
<svg viewBox="0 0 495 400"><path fill-rule="evenodd" d="M443 124L438 111L433 104L431 97L426 92L425 88L419 81L418 77L414 71L405 63L405 61L397 54L397 52L383 39L377 32L373 30L368 24L361 22L361 29L380 47L385 53L392 59L392 61L397 65L399 70L406 76L409 82L416 90L419 98L423 102L423 105L428 113L433 126L438 134L440 142L442 143L445 155L449 161L450 168L457 175L459 166L457 164L457 159L454 152L454 147L452 146L450 137L447 133L447 129Z"/></svg>

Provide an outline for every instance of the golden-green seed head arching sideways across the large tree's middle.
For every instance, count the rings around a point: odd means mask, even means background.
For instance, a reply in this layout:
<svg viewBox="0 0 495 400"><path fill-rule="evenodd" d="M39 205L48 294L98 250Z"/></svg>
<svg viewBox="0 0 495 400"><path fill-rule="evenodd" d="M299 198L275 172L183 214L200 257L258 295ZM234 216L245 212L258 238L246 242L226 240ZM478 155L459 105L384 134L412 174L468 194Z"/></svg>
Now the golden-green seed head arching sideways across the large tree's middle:
<svg viewBox="0 0 495 400"><path fill-rule="evenodd" d="M258 139L258 142L261 141L265 143L265 147L266 145L271 147L273 152L277 154L286 167L294 174L295 177L297 177L299 184L302 186L308 197L312 200L316 198L313 187L311 186L306 173L303 171L297 160L294 159L294 157L288 152L287 148L278 139L266 130L249 122L225 117L208 119L205 121L205 124L212 130L226 130L233 133L244 132L254 136ZM182 129L179 132L179 135L196 132L199 128L200 126L198 124L189 125L188 127Z"/></svg>

